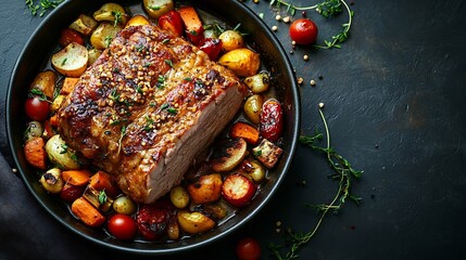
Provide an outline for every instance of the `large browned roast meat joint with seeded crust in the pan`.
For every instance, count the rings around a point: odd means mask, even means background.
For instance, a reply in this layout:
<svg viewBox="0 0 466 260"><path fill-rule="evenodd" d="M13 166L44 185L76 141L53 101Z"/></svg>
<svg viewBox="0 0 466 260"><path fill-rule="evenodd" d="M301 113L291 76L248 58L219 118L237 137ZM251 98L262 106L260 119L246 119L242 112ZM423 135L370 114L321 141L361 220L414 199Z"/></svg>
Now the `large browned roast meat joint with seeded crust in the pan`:
<svg viewBox="0 0 466 260"><path fill-rule="evenodd" d="M180 182L232 119L240 80L155 26L129 27L80 77L59 110L67 144L152 203Z"/></svg>

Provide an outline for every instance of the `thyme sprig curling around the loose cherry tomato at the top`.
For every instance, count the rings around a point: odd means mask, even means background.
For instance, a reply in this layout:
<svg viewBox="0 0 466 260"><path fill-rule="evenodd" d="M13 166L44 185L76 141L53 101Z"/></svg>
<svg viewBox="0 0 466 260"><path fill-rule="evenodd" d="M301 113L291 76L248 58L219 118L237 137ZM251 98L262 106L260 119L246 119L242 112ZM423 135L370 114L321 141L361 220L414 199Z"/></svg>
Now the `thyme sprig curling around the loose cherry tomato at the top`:
<svg viewBox="0 0 466 260"><path fill-rule="evenodd" d="M295 11L306 11L306 10L315 10L317 13L319 13L322 16L328 18L331 16L336 16L340 14L342 10L342 5L344 6L344 10L348 13L348 23L342 24L342 29L333 35L331 37L331 40L324 40L324 44L314 44L314 48L316 49L331 49L331 48L341 48L341 43L348 40L350 37L350 29L351 25L353 23L353 16L354 12L350 9L348 3L344 0L324 0L320 3L310 5L310 6L297 6L292 2L286 2L284 0L272 0L270 5L276 5L277 8L280 8L281 5L287 6L287 12L291 15L295 14Z"/></svg>

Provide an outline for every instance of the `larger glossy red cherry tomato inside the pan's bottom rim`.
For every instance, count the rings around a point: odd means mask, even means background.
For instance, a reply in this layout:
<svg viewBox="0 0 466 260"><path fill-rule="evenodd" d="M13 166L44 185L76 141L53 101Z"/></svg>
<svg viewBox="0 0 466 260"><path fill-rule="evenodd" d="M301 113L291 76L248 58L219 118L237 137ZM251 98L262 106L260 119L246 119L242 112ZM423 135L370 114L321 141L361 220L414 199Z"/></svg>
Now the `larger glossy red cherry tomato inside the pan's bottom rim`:
<svg viewBox="0 0 466 260"><path fill-rule="evenodd" d="M137 232L136 221L131 217L122 213L112 216L106 227L110 234L122 240L131 239Z"/></svg>

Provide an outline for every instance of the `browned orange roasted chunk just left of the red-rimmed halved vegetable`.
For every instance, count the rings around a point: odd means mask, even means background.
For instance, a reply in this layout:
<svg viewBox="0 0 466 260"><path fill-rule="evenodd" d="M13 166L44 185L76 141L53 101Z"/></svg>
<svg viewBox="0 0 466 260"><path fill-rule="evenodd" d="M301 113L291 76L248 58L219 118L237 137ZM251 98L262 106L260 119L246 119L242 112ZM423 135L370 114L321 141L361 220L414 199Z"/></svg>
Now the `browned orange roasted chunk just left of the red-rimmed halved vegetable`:
<svg viewBox="0 0 466 260"><path fill-rule="evenodd" d="M222 196L222 176L218 173L202 176L188 185L188 192L196 204L213 203Z"/></svg>

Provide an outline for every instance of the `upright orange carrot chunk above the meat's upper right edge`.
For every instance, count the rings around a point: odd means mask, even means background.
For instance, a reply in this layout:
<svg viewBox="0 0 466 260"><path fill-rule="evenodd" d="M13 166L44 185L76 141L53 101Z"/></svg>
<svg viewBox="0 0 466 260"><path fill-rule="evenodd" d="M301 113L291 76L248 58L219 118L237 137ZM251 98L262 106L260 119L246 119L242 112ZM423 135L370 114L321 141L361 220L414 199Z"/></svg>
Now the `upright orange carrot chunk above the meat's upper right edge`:
<svg viewBox="0 0 466 260"><path fill-rule="evenodd" d="M196 12L193 6L182 6L178 10L178 13L185 24L186 37L194 46L199 46L204 38L204 26L201 18L199 18L198 12Z"/></svg>

